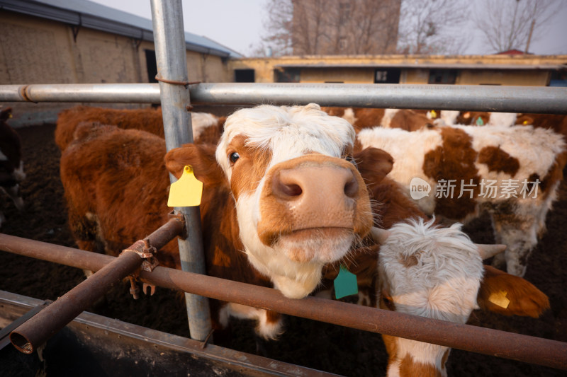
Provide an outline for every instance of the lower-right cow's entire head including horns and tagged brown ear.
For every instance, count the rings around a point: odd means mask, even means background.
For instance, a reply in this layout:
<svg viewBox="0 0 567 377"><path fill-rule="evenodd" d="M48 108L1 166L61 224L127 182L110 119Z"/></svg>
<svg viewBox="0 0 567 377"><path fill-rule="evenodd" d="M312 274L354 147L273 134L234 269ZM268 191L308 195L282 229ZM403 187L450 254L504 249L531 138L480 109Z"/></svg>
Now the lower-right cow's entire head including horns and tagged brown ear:
<svg viewBox="0 0 567 377"><path fill-rule="evenodd" d="M372 229L381 243L379 307L400 313L466 323L473 309L537 318L549 298L531 283L490 266L483 259L505 245L477 245L461 231L422 219ZM378 231L378 233L377 233ZM388 376L447 376L448 347L383 335Z"/></svg>

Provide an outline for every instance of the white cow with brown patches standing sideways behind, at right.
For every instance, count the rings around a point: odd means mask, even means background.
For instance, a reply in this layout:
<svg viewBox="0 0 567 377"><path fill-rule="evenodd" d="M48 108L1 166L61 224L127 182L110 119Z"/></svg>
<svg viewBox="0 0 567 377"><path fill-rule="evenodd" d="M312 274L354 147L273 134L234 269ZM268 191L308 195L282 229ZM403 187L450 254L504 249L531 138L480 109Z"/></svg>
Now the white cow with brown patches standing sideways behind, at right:
<svg viewBox="0 0 567 377"><path fill-rule="evenodd" d="M362 148L390 153L389 177L413 192L426 214L468 221L487 211L497 243L507 245L496 266L523 276L527 258L544 232L567 153L561 135L533 127L451 126L405 132L364 129ZM412 182L413 180L413 182ZM413 186L412 186L413 185Z"/></svg>

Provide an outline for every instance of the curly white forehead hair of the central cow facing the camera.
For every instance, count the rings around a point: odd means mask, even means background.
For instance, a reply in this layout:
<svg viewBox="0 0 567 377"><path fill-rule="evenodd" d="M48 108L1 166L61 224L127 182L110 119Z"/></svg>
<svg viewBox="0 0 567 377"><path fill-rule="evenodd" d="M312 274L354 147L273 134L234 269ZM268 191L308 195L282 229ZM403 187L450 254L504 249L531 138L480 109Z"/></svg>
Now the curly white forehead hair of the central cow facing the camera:
<svg viewBox="0 0 567 377"><path fill-rule="evenodd" d="M271 151L268 166L303 156L305 153L322 153L340 157L346 146L354 145L356 134L347 121L332 117L320 110L319 105L271 106L238 110L225 122L216 158L230 179L227 148L237 136L247 137L247 145Z"/></svg>

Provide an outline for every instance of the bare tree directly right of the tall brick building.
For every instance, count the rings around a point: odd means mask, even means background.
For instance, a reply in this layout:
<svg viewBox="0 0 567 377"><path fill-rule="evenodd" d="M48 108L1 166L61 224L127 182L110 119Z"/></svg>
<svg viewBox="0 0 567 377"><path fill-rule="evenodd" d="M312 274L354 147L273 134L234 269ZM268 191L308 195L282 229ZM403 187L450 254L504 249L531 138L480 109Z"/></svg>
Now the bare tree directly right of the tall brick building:
<svg viewBox="0 0 567 377"><path fill-rule="evenodd" d="M462 0L403 0L398 52L403 54L461 54L471 36L456 32L468 14Z"/></svg>

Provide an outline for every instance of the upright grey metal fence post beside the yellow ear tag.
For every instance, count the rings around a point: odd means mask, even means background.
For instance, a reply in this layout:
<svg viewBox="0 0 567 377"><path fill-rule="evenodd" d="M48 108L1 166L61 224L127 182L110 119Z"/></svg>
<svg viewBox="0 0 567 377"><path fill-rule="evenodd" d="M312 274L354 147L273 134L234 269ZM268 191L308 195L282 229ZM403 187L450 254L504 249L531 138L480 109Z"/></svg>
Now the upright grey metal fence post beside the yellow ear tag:
<svg viewBox="0 0 567 377"><path fill-rule="evenodd" d="M151 0L154 43L157 60L159 92L162 100L165 144L169 151L181 144L193 141L189 87L175 81L188 81L185 32L181 0ZM174 182L174 176L169 175ZM185 216L186 240L179 240L181 269L186 272L205 274L203 239L201 236L201 215L198 207L176 208ZM208 298L185 294L189 332L195 340L205 340L210 332L210 311Z"/></svg>

